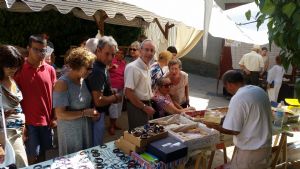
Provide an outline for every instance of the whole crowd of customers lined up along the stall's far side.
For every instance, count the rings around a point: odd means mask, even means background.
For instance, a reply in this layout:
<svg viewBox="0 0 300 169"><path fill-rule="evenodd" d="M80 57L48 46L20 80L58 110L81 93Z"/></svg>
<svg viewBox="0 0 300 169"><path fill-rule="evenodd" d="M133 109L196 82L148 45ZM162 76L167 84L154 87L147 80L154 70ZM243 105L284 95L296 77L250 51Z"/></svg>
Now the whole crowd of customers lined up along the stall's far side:
<svg viewBox="0 0 300 169"><path fill-rule="evenodd" d="M110 135L124 129L116 123L123 103L129 129L153 117L194 110L175 47L155 61L149 39L133 42L126 55L111 36L90 38L67 52L60 74L45 36L30 36L27 50L24 56L14 46L0 46L1 104L18 168L45 160L55 128L60 156L102 145L105 115Z"/></svg>

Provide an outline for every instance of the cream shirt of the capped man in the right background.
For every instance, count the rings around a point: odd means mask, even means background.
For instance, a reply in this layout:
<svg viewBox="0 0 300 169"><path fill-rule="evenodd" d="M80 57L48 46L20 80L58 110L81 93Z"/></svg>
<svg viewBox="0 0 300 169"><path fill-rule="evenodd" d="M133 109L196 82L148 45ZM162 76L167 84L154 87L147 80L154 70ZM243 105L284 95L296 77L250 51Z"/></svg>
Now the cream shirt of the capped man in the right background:
<svg viewBox="0 0 300 169"><path fill-rule="evenodd" d="M260 71L265 65L262 56L255 51L243 55L239 64L244 65L249 71Z"/></svg>

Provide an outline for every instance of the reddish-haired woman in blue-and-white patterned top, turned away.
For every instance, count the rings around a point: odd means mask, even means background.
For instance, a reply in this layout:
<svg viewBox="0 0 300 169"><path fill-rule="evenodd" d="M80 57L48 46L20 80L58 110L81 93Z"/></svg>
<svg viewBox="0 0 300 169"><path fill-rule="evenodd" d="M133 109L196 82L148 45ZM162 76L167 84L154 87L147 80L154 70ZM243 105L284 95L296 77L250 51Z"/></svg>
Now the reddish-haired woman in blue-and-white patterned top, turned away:
<svg viewBox="0 0 300 169"><path fill-rule="evenodd" d="M168 70L168 63L172 59L172 53L169 51L162 51L158 56L156 63L153 63L150 68L151 86L154 89L156 81L161 78Z"/></svg>

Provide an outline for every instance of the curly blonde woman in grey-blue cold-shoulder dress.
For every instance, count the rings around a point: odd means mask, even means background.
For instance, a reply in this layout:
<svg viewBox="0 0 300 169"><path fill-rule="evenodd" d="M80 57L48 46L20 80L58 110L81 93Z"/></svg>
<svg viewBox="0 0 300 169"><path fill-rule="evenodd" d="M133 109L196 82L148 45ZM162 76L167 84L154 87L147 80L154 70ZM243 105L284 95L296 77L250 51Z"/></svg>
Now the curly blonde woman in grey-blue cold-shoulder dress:
<svg viewBox="0 0 300 169"><path fill-rule="evenodd" d="M92 118L99 113L90 108L92 96L84 78L92 70L95 55L87 49L73 49L66 58L70 71L55 83L53 107L57 116L59 155L92 146Z"/></svg>

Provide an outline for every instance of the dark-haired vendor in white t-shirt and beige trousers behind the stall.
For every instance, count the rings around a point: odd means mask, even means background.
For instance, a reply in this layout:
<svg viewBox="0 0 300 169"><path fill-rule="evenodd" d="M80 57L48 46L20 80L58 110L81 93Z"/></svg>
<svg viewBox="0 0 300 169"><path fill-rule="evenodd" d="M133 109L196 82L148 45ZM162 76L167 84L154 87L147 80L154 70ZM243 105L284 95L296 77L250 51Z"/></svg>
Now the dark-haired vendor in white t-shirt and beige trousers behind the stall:
<svg viewBox="0 0 300 169"><path fill-rule="evenodd" d="M271 155L272 123L268 95L260 87L244 85L243 75L229 70L223 75L223 83L234 95L229 103L223 128L232 134L236 153L231 169L265 169Z"/></svg>

